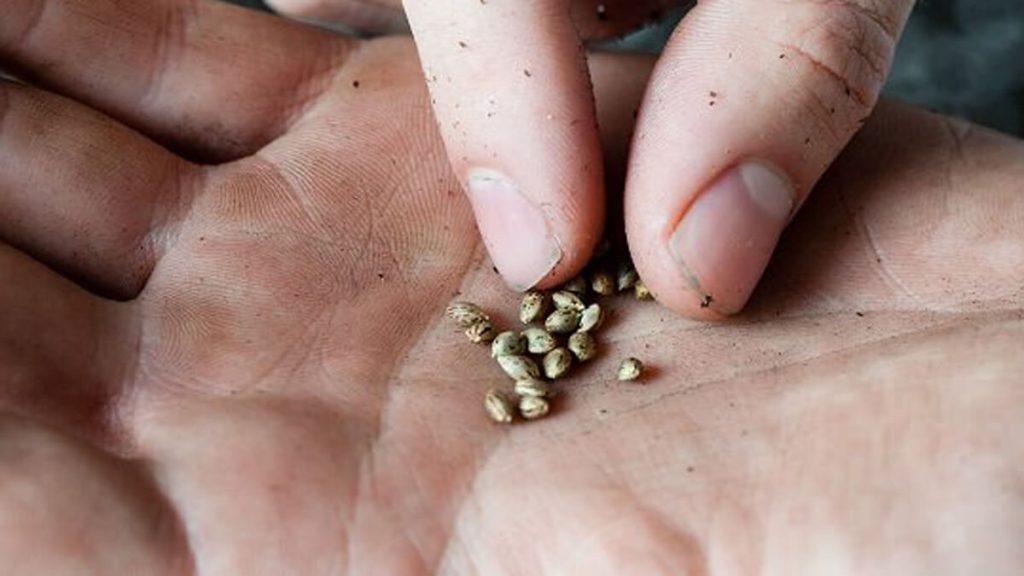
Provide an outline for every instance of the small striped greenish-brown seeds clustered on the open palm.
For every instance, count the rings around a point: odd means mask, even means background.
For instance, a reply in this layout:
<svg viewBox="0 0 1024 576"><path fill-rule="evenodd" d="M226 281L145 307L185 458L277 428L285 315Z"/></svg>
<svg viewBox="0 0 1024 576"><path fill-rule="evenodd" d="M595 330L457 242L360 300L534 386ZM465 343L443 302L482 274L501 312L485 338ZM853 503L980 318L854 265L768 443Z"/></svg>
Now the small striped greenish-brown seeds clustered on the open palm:
<svg viewBox="0 0 1024 576"><path fill-rule="evenodd" d="M601 296L632 292L638 300L651 299L632 264L617 266L614 274L597 269L579 276L551 292L531 290L519 304L522 330L499 332L490 317L478 305L457 301L445 314L465 329L474 343L490 343L490 356L513 383L511 390L490 389L484 397L487 415L497 422L511 422L515 414L526 420L544 417L554 397L552 381L566 376L574 365L598 354L595 334L605 318ZM618 366L620 380L636 380L643 363L627 358Z"/></svg>

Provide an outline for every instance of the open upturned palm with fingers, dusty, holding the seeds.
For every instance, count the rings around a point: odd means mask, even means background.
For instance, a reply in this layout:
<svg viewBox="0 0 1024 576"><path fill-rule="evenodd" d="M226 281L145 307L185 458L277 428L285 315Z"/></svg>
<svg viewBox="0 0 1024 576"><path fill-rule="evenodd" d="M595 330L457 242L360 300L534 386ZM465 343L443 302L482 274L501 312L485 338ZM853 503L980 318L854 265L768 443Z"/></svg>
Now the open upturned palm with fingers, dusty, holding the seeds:
<svg viewBox="0 0 1024 576"><path fill-rule="evenodd" d="M555 412L503 426L507 380L441 311L512 325L516 297L411 42L175 6L0 28L34 84L0 85L6 570L1024 567L1020 141L883 106L743 315L613 300ZM592 67L621 157L645 66ZM641 383L610 377L628 355Z"/></svg>

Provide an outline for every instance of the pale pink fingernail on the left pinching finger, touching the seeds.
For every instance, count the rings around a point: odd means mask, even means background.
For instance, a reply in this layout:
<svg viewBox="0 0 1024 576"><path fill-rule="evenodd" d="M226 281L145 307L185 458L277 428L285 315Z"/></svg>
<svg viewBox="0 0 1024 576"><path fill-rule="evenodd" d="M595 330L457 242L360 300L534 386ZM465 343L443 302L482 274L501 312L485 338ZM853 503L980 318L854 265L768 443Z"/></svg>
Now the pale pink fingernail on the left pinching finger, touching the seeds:
<svg viewBox="0 0 1024 576"><path fill-rule="evenodd" d="M492 170L472 170L467 188L476 225L505 282L526 290L548 276L562 250L540 207Z"/></svg>

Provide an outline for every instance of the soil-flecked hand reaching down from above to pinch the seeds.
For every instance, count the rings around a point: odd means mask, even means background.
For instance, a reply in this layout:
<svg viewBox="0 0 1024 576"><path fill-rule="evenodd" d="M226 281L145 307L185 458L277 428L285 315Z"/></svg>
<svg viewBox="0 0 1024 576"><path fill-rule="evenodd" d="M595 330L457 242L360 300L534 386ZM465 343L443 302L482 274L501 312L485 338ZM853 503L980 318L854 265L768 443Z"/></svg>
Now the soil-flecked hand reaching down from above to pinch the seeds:
<svg viewBox="0 0 1024 576"><path fill-rule="evenodd" d="M604 179L581 39L683 1L407 0L434 112L498 268L551 286L590 259ZM272 0L400 22L396 0ZM912 0L709 1L669 42L639 108L625 213L657 299L721 319L870 114ZM386 14L386 17L385 17Z"/></svg>

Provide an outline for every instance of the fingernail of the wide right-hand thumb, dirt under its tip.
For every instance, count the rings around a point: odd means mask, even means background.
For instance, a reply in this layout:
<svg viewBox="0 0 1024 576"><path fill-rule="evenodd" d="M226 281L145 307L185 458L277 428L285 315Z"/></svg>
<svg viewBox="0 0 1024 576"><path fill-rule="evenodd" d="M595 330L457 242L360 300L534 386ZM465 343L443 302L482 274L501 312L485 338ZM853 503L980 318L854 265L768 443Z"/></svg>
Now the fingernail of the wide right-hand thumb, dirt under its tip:
<svg viewBox="0 0 1024 576"><path fill-rule="evenodd" d="M790 220L795 194L782 171L749 161L726 172L690 206L669 250L700 305L739 312Z"/></svg>

